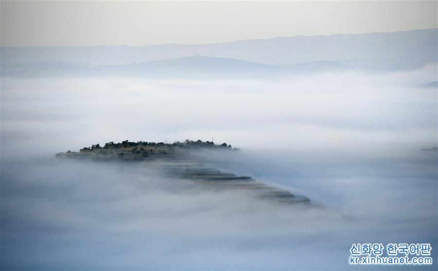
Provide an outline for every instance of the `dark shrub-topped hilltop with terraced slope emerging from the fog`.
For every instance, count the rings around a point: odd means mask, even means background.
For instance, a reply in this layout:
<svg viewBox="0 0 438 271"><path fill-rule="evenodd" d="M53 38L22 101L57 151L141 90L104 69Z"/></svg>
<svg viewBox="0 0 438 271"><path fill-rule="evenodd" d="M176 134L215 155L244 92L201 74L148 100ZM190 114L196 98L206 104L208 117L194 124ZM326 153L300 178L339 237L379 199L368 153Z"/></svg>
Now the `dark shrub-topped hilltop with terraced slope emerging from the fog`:
<svg viewBox="0 0 438 271"><path fill-rule="evenodd" d="M199 155L199 153L203 155ZM79 152L59 152L58 158L90 159L98 161L125 161L144 162L145 166L154 167L167 178L183 179L207 189L218 191L240 189L242 193L249 193L260 199L274 203L310 203L310 200L301 195L294 195L289 190L255 181L250 176L237 176L231 172L224 172L215 167L207 166L205 155L215 152L238 152L237 148L222 143L201 140L184 142L155 143L155 142L108 142L101 147L99 144L80 149ZM197 155L198 154L198 155Z"/></svg>

